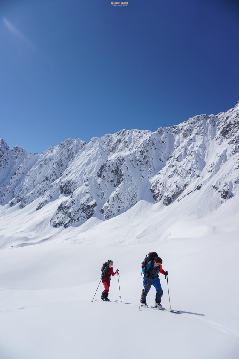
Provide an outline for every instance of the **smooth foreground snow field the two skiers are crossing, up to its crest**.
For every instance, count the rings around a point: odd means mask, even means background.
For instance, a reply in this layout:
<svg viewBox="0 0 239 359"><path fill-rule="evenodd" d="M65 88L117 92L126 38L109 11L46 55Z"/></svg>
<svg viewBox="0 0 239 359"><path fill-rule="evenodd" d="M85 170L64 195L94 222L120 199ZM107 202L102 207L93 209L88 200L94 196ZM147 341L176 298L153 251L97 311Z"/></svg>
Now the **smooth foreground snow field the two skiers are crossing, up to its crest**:
<svg viewBox="0 0 239 359"><path fill-rule="evenodd" d="M227 238L214 234L137 246L46 242L2 250L0 357L91 359L107 352L117 359L140 358L150 347L167 359L236 359L238 246L234 231ZM140 264L149 251L163 258L171 306L182 314L138 310ZM101 302L102 283L98 301L91 302L107 259L120 270L121 299L132 305ZM162 304L169 307L167 281L160 278ZM117 275L109 298L120 299ZM152 288L149 305L154 298Z"/></svg>

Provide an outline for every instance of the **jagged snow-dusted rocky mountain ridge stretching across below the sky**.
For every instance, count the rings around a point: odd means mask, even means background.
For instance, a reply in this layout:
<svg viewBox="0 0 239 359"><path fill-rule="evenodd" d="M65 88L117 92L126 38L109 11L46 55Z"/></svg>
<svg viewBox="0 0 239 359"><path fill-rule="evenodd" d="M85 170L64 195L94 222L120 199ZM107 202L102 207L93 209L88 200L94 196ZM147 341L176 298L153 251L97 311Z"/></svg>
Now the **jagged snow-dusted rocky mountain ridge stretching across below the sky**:
<svg viewBox="0 0 239 359"><path fill-rule="evenodd" d="M139 200L164 206L207 188L220 206L239 191L239 103L156 132L121 130L86 144L68 139L41 155L0 140L1 203L36 210L64 195L53 227L108 219ZM67 196L67 197L66 197Z"/></svg>

